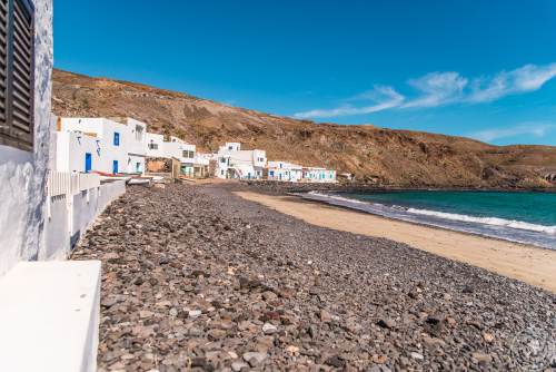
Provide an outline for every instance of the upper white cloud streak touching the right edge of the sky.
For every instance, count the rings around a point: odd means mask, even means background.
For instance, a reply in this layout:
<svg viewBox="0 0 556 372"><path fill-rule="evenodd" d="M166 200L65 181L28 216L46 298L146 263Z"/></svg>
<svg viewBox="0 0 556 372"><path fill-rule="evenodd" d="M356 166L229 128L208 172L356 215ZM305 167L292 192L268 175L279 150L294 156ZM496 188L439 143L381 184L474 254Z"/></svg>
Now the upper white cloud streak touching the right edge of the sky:
<svg viewBox="0 0 556 372"><path fill-rule="evenodd" d="M502 71L492 78L475 79L467 101L488 102L509 95L535 91L555 77L556 63L526 65L512 71Z"/></svg>

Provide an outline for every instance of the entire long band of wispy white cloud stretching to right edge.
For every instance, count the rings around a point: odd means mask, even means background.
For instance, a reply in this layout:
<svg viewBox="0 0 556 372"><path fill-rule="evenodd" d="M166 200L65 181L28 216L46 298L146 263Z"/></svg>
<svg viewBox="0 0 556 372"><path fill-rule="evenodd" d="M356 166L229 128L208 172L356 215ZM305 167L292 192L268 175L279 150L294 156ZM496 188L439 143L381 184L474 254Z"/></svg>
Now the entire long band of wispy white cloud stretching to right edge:
<svg viewBox="0 0 556 372"><path fill-rule="evenodd" d="M500 71L489 77L468 79L459 72L429 72L410 79L408 85L417 90L414 98L404 97L393 87L376 86L347 101L367 100L366 106L346 104L332 109L315 109L295 114L300 119L331 118L371 114L394 108L430 108L454 104L480 104L502 99L509 95L538 90L556 78L556 63L526 65L512 71Z"/></svg>

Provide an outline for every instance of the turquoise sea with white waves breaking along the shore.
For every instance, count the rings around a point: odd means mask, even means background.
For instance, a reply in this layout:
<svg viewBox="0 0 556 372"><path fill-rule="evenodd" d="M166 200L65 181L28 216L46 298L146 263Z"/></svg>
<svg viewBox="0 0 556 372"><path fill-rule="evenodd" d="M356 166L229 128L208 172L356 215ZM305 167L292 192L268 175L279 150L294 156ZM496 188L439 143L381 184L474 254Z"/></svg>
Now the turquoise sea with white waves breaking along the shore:
<svg viewBox="0 0 556 372"><path fill-rule="evenodd" d="M304 198L394 219L556 249L556 194L535 192L311 192Z"/></svg>

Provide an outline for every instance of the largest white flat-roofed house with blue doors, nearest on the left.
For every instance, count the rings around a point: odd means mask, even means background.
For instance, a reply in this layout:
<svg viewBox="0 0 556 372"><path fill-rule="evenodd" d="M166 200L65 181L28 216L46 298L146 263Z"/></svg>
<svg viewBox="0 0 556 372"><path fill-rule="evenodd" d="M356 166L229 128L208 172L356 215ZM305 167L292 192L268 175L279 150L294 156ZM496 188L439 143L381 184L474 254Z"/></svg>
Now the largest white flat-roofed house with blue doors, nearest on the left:
<svg viewBox="0 0 556 372"><path fill-rule="evenodd" d="M145 173L145 123L130 118L121 121L106 118L60 118L57 129L59 172ZM66 133L76 135L68 136Z"/></svg>

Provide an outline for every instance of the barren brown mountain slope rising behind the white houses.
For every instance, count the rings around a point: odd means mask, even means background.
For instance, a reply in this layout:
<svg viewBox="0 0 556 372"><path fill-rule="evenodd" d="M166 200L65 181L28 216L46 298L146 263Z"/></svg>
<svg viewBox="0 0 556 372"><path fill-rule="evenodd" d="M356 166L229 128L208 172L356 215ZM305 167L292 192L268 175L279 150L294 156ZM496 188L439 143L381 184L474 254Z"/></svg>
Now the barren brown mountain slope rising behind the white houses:
<svg viewBox="0 0 556 372"><path fill-rule="evenodd" d="M269 159L327 166L400 186L549 186L556 147L496 147L473 139L315 124L229 107L139 84L56 70L59 116L130 116L149 131L172 134L215 150L225 141L267 150Z"/></svg>

